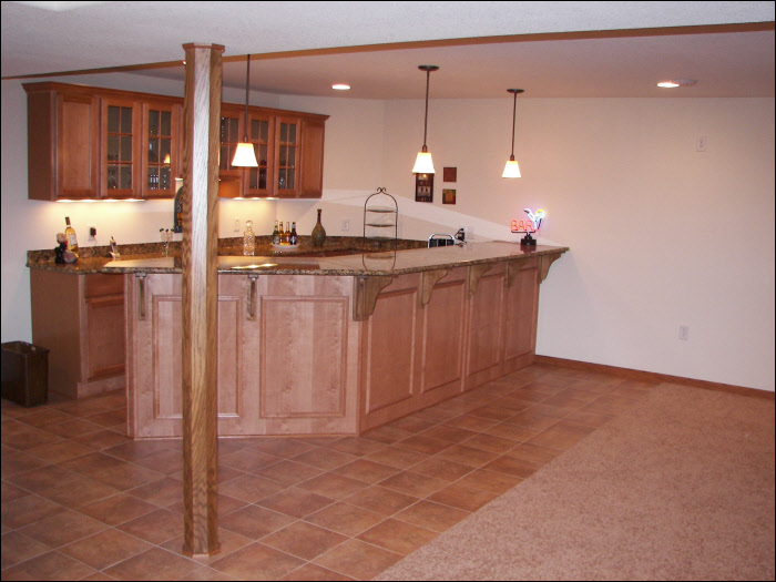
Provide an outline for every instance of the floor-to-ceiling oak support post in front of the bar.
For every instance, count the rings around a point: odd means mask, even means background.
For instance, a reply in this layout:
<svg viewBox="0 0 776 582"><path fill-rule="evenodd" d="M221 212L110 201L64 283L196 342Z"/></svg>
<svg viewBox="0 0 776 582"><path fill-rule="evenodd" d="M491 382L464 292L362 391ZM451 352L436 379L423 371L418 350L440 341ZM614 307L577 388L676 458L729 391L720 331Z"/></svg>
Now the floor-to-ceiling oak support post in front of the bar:
<svg viewBox="0 0 776 582"><path fill-rule="evenodd" d="M218 44L184 44L183 553L217 553Z"/></svg>

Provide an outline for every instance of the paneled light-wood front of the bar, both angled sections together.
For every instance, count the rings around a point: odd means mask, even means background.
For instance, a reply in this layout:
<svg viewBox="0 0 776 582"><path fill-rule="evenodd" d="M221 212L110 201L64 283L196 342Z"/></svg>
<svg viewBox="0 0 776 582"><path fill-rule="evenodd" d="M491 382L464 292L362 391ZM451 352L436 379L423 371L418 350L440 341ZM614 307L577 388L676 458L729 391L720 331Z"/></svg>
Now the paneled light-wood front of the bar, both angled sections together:
<svg viewBox="0 0 776 582"><path fill-rule="evenodd" d="M487 267L487 268L486 268ZM129 430L182 431L181 285L127 274ZM539 261L388 279L218 275L218 433L358 435L530 365Z"/></svg>

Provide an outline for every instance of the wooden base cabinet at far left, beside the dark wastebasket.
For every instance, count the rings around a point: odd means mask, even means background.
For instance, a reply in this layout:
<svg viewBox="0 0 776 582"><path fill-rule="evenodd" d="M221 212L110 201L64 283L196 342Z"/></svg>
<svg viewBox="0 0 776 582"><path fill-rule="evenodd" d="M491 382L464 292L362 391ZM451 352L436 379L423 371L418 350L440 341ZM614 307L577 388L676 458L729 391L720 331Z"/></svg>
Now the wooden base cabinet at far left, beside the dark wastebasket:
<svg viewBox="0 0 776 582"><path fill-rule="evenodd" d="M124 388L124 277L30 269L32 343L49 389L85 398Z"/></svg>

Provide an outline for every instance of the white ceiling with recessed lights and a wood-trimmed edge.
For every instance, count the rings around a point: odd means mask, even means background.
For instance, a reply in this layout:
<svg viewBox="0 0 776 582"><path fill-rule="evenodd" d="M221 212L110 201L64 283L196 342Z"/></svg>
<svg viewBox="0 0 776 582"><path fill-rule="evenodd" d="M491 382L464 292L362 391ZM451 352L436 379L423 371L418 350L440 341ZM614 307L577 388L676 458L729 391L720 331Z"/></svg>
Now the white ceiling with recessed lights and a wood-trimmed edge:
<svg viewBox="0 0 776 582"><path fill-rule="evenodd" d="M508 88L524 89L521 99L773 96L774 7L3 1L2 78L147 64L142 74L183 81L182 65L155 63L175 63L182 44L203 42L225 47L225 85L245 86L242 55L251 53L252 89L284 94L422 99L417 67L437 64L432 99L509 99ZM665 78L698 82L657 89ZM334 82L353 90L334 92Z"/></svg>

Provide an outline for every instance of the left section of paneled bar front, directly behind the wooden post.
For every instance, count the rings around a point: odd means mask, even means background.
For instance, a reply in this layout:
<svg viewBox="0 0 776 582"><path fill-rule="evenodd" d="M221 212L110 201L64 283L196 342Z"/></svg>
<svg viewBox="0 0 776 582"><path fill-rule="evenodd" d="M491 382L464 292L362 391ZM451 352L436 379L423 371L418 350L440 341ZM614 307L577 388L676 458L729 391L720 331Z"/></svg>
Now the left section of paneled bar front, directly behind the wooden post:
<svg viewBox="0 0 776 582"><path fill-rule="evenodd" d="M181 275L127 274L130 436L182 435ZM218 433L356 432L349 277L218 276Z"/></svg>

